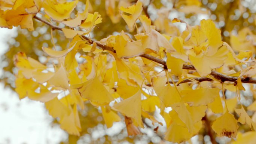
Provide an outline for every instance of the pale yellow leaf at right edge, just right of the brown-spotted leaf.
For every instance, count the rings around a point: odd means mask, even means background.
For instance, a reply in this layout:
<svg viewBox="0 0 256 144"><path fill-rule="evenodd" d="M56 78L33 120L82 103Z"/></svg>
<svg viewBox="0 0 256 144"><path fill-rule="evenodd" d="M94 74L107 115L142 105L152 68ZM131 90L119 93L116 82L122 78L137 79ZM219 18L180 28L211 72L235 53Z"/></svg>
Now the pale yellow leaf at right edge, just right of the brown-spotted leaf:
<svg viewBox="0 0 256 144"><path fill-rule="evenodd" d="M235 112L240 116L238 122L249 125L251 129L256 129L256 123L252 121L243 107L241 109L235 108Z"/></svg>

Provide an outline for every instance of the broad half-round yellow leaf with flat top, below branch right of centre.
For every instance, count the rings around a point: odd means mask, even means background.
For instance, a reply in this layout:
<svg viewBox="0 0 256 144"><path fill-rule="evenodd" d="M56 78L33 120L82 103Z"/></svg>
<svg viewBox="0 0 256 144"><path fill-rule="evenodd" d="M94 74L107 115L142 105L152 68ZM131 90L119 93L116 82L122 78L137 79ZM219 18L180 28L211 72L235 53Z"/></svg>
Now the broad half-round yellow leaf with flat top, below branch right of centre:
<svg viewBox="0 0 256 144"><path fill-rule="evenodd" d="M195 90L184 90L180 92L182 99L190 105L207 105L213 102L216 96L219 96L219 88L202 88Z"/></svg>

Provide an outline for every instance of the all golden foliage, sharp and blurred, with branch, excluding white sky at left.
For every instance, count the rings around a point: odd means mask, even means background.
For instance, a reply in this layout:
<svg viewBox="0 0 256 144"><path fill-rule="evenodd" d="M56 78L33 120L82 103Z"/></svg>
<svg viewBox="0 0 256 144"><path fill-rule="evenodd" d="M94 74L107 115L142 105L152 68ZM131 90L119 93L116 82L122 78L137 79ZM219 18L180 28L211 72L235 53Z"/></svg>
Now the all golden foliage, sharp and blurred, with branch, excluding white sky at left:
<svg viewBox="0 0 256 144"><path fill-rule="evenodd" d="M253 3L253 2L252 2ZM256 2L254 3L256 4ZM244 0L0 0L18 28L1 82L45 104L68 143L255 141L255 7ZM223 7L229 7L223 8ZM15 78L13 78L15 77ZM14 80L13 80L14 79ZM97 131L96 129L94 129ZM118 137L117 135L121 135ZM116 138L118 137L118 138ZM216 142L217 141L217 142Z"/></svg>

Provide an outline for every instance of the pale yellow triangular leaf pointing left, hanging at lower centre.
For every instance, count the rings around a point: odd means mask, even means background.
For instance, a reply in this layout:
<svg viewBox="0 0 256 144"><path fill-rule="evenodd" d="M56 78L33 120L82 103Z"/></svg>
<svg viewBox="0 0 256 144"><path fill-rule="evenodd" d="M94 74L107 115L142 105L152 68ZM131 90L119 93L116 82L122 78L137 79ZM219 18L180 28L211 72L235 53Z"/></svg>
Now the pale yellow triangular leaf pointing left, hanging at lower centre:
<svg viewBox="0 0 256 144"><path fill-rule="evenodd" d="M141 123L141 92L113 105L113 110L119 111L127 117L131 117L140 126Z"/></svg>

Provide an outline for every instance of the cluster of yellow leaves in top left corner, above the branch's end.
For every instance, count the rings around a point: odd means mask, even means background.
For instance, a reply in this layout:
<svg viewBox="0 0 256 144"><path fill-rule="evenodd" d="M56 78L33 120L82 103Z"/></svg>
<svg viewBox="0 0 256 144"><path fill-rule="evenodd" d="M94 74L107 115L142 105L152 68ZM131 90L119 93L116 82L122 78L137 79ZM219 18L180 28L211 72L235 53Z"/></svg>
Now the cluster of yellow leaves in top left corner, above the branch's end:
<svg viewBox="0 0 256 144"><path fill-rule="evenodd" d="M46 18L50 18L55 22L62 22L72 28L63 28L67 38L73 38L77 34L88 34L95 25L101 23L102 19L98 12L89 13L89 0L86 1L84 12L78 12L74 19L70 19L70 14L77 6L78 0L70 2L66 0L4 0L4 3L8 4L5 5L4 9L0 10L0 27L12 28L12 26L20 25L21 28L33 31L32 19L43 8ZM85 31L73 30L77 26Z"/></svg>

